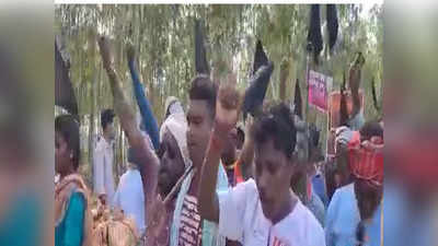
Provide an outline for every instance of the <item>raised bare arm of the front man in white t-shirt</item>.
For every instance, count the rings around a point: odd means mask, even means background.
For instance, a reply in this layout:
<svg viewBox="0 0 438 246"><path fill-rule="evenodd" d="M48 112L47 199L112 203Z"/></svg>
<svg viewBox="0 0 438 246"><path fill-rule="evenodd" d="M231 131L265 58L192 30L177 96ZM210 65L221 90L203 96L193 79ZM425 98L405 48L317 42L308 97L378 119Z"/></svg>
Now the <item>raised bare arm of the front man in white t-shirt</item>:
<svg viewBox="0 0 438 246"><path fill-rule="evenodd" d="M208 143L199 180L198 209L203 219L219 222L219 199L216 194L219 160L227 141L228 132L235 127L240 108L240 96L235 91L235 78L231 75L221 85L216 103L215 127ZM229 80L229 81L230 81Z"/></svg>

